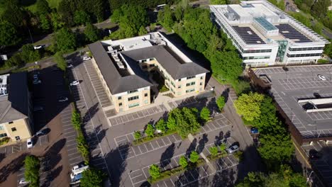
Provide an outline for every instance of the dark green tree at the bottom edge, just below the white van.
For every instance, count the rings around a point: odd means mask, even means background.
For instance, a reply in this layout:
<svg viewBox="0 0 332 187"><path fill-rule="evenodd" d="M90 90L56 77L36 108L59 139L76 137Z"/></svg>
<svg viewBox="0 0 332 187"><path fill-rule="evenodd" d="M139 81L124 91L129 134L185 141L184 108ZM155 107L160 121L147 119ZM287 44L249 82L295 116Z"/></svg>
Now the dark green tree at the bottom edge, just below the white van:
<svg viewBox="0 0 332 187"><path fill-rule="evenodd" d="M103 179L106 177L104 172L90 168L82 172L81 183L82 187L102 186Z"/></svg>

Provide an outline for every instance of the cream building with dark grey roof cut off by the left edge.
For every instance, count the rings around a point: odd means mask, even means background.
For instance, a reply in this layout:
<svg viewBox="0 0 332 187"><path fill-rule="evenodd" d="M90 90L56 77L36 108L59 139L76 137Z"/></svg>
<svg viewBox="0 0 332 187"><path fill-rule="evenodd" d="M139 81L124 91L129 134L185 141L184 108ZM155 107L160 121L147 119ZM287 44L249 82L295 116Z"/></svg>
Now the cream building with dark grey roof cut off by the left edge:
<svg viewBox="0 0 332 187"><path fill-rule="evenodd" d="M33 114L28 91L28 74L0 76L0 139L24 140L32 136Z"/></svg>

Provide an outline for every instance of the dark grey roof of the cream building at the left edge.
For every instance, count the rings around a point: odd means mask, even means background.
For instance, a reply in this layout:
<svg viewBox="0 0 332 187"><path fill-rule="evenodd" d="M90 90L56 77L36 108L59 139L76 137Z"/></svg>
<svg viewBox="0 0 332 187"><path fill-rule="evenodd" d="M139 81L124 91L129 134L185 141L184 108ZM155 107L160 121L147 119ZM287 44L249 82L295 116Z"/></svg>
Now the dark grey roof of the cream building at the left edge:
<svg viewBox="0 0 332 187"><path fill-rule="evenodd" d="M0 96L0 123L28 118L28 74L9 75L8 96Z"/></svg>

